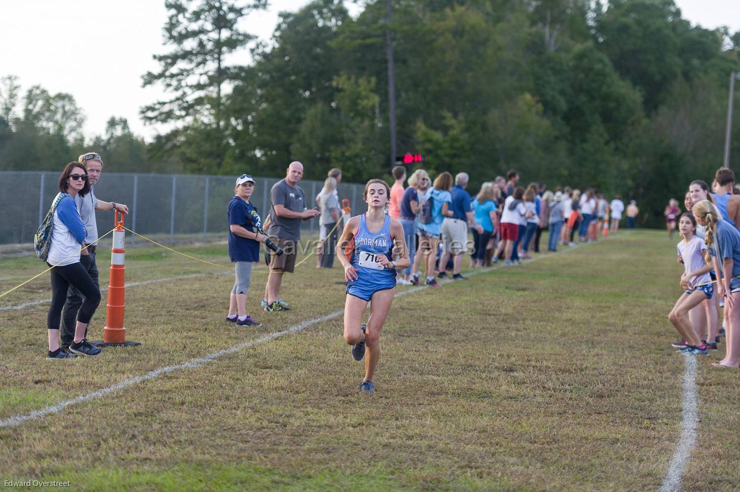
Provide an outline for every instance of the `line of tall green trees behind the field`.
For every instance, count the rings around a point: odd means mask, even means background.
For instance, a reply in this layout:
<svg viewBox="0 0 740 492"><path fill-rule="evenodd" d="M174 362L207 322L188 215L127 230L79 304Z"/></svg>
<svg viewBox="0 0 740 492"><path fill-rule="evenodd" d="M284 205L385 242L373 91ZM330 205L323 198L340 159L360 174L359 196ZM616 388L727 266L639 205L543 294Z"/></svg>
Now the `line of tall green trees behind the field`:
<svg viewBox="0 0 740 492"><path fill-rule="evenodd" d="M168 98L141 108L172 129L152 142L110 118L89 140L74 98L0 81L0 169L54 168L94 148L116 170L389 178L386 31L397 149L431 173L508 169L635 198L659 223L668 198L721 166L740 33L682 18L673 0L340 0L281 13L272 39L240 26L266 0L167 0L159 70ZM244 49L252 61L243 61ZM733 127L730 166L740 162ZM33 158L30 158L33 156ZM736 166L737 167L737 166Z"/></svg>

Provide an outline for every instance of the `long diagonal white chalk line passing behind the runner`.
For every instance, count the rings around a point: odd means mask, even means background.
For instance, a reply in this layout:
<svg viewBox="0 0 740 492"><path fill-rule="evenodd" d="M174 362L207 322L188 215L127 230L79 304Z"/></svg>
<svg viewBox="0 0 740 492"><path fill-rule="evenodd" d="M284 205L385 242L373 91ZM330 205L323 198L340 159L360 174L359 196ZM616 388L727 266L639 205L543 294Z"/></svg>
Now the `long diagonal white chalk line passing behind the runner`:
<svg viewBox="0 0 740 492"><path fill-rule="evenodd" d="M574 246L574 247L569 248L569 249L566 249L566 250L564 250L562 252L563 253L567 253L568 251L572 251L573 249L577 249L579 247L580 246ZM539 259L542 259L542 258L553 257L553 256L554 255L545 255L545 256L534 257L531 260L525 260L525 262L523 262L523 263L525 263L525 264L526 263L531 263L531 262L533 262L535 260L539 260ZM488 269L477 269L477 270L474 270L472 272L468 272L468 276L472 276L472 275L480 274L480 273L491 272L492 270L500 269L500 268L502 268L504 266L510 266L510 265L502 265L502 264L499 264L497 266L492 266L491 268L488 268ZM176 277L176 278L184 278L184 277ZM164 279L158 279L158 280L164 280ZM453 282L457 282L457 281L459 281L459 280L446 280L443 283L453 283ZM152 283L152 280L147 280L147 282ZM139 284L139 285L141 285L141 284ZM401 297L401 296L406 295L406 294L413 294L414 292L419 292L421 290L428 289L428 288L429 288L428 286L412 287L411 289L408 289L408 290L405 290L405 291L402 291L402 292L398 292L394 297ZM221 349L219 351L213 352L212 354L208 354L208 355L203 356L203 357L197 357L195 359L188 360L188 361L186 361L184 363L181 363L181 364L167 365L166 367L158 368L158 369L155 369L154 371L149 371L149 372L147 372L145 374L141 374L140 376L135 376L135 377L131 377L131 378L127 379L127 380L123 380L123 381L121 381L121 383L116 383L115 385L108 386L107 388L102 388L102 389L99 389L97 391L92 391L92 393L88 393L88 394L81 394L80 396L78 396L76 398L73 398L72 400L66 400L64 402L59 402L56 405L50 405L47 408L41 408L41 410L32 411L29 414L15 415L13 417L9 417L7 419L0 420L0 428L3 428L3 427L13 427L14 425L19 425L19 424L22 424L22 423L27 422L29 420L32 420L32 419L41 419L41 418L46 417L49 414L57 414L60 411L64 410L64 408L67 408L68 406L77 405L78 403L89 402L90 400L95 400L96 398L107 396L107 395L109 395L109 394L111 394L111 393L113 393L115 391L120 390L120 389L128 388L129 386L135 385L137 383L142 383L144 381L152 380L152 379L154 379L156 377L160 377L162 374L167 374L167 373L170 373L170 372L173 372L173 371L179 371L181 369L196 368L199 365L202 365L204 363L209 363L212 360L215 360L218 357L221 357L223 355L233 354L235 352L238 352L238 351L242 350L243 348L249 348L249 347L252 347L252 346L257 345L258 343L269 342L270 340L275 340L276 338L283 337L283 335L286 335L286 334L296 333L297 331L303 331L304 329L308 328L309 326L313 326L314 324L321 323L323 321L332 320L335 317L341 316L342 314L344 314L344 309L342 309L340 311L334 311L333 313L326 314L324 316L315 317L312 320L303 321L302 323L298 323L297 325L291 326L290 328L287 328L287 329L285 329L283 331L275 331L275 332L273 332L271 334L267 334L267 335L265 335L263 337L256 338L255 340L249 340L247 342L238 343L237 345L232 346L230 348L223 348L223 349Z"/></svg>

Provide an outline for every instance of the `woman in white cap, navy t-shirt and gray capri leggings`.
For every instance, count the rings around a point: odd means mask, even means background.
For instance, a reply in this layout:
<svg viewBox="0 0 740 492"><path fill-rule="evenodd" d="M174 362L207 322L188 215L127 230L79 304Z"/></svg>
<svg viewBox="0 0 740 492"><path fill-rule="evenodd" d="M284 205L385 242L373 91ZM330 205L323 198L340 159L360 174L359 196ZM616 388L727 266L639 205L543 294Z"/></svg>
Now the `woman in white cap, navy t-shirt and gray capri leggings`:
<svg viewBox="0 0 740 492"><path fill-rule="evenodd" d="M246 314L246 293L252 281L252 263L260 260L260 243L263 235L262 221L249 198L255 191L255 180L250 175L236 179L234 198L229 202L229 260L234 263L235 282L229 297L229 314L226 321L238 326L261 326Z"/></svg>

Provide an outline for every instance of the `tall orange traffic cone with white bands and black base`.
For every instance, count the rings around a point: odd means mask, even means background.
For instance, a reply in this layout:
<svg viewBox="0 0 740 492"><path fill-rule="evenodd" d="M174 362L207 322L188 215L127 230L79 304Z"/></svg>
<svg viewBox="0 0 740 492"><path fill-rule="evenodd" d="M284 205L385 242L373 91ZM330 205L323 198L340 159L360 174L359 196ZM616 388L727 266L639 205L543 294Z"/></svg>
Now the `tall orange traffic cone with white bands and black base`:
<svg viewBox="0 0 740 492"><path fill-rule="evenodd" d="M118 220L120 215L121 220ZM105 328L103 340L95 342L97 346L138 346L141 343L126 341L124 328L125 281L124 256L125 234L124 215L118 210L113 215L113 247L110 253L110 280L108 282L108 303L106 305Z"/></svg>

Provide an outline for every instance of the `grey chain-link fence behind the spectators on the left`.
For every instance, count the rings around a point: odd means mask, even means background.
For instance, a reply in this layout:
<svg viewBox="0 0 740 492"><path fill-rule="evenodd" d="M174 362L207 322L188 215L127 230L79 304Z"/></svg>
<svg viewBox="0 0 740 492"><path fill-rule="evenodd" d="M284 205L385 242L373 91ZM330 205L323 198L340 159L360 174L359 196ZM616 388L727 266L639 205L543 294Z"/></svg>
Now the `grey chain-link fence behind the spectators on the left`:
<svg viewBox="0 0 740 492"><path fill-rule="evenodd" d="M0 172L0 245L33 243L38 225L58 192L61 172ZM279 178L255 176L251 202L264 220L269 214L269 192ZM100 200L126 203L125 225L141 235L165 243L223 240L228 237L226 207L234 196L235 177L200 175L121 174L103 171L95 184ZM311 208L323 187L321 181L300 181ZM340 183L340 200L349 200L352 214L364 210L363 185ZM98 233L113 227L111 212L96 212ZM318 235L318 218L304 220L304 234ZM141 243L129 235L127 244ZM110 236L109 236L110 237ZM107 238L106 238L107 239ZM24 249L24 248L23 248ZM7 248L4 248L7 250Z"/></svg>

